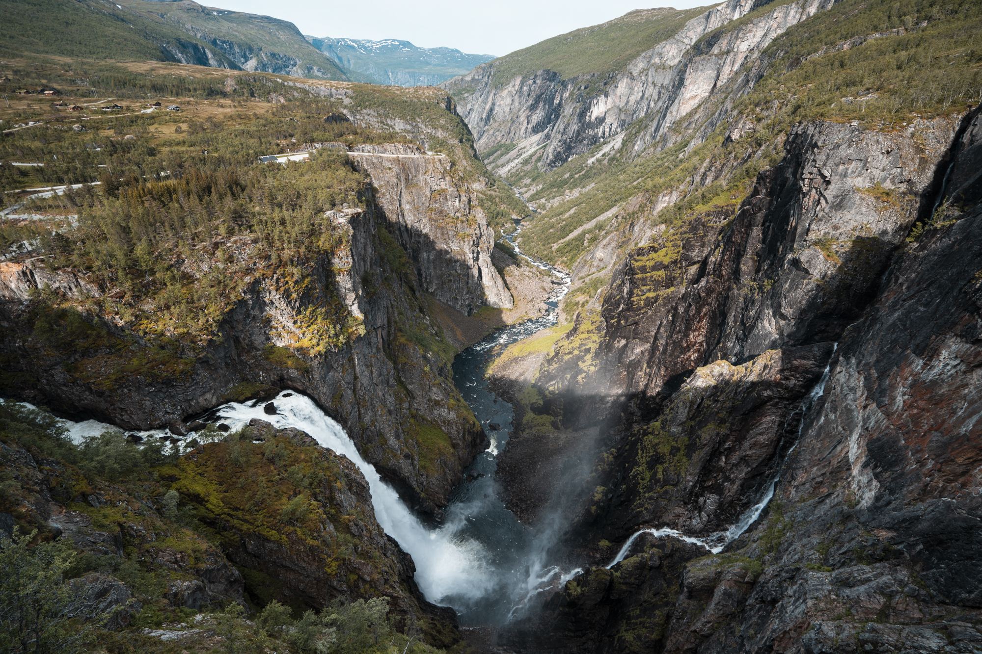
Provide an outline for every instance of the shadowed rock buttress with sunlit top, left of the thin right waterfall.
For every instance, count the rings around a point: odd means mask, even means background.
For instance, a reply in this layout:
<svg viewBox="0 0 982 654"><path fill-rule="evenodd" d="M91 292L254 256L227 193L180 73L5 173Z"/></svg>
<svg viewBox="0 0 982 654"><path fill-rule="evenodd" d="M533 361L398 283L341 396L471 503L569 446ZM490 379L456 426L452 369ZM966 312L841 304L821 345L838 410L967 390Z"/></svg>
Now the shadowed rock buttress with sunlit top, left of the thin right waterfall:
<svg viewBox="0 0 982 654"><path fill-rule="evenodd" d="M797 441L833 349L773 350L696 369L658 420L627 437L623 461L611 463L626 480L595 492L580 523L602 524L611 540L639 524L702 536L726 530L764 495Z"/></svg>

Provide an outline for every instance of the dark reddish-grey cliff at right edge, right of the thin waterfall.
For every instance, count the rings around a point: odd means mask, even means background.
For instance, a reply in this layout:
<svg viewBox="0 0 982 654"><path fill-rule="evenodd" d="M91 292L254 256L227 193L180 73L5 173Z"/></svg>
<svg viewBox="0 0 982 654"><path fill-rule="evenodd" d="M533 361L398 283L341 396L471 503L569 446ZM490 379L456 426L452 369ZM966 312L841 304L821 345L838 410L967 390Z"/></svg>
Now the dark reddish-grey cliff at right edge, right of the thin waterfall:
<svg viewBox="0 0 982 654"><path fill-rule="evenodd" d="M982 639L982 215L957 218L900 255L846 331L783 504L733 546L771 565L738 602L716 603L730 620L720 631L696 627L713 616L685 605L667 651L971 651Z"/></svg>

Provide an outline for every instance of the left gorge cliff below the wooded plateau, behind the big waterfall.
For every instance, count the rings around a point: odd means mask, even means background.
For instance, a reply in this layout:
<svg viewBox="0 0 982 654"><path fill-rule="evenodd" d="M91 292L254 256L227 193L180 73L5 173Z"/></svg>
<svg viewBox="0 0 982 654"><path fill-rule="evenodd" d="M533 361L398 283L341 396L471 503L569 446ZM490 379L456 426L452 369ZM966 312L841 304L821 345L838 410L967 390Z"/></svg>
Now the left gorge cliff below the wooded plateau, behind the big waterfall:
<svg viewBox="0 0 982 654"><path fill-rule="evenodd" d="M449 207L462 197L464 205L469 201L439 166L426 171L428 177L413 178L414 172L423 174L410 168L400 183L433 184L441 195L455 198L438 206ZM404 209L390 219L381 207L400 199ZM507 290L493 267L482 269L491 246L481 240L486 223L470 215L461 220L469 221L472 232L438 227L426 237L420 231L428 229L423 225L432 217L425 208L412 208L411 199L390 199L388 191L379 191L377 212L374 205L365 212L334 212L333 220L348 235L346 245L313 262L310 283L298 287L282 271L263 272L263 262L257 261L255 277L225 317L220 338L196 355L146 347L119 316L91 315L73 322L91 337L83 344L71 330L38 338L38 312L44 311L40 300L28 302L34 290L48 284L77 299L100 292L76 273L47 269L42 259L5 264L3 320L8 333L16 334L4 343L5 390L70 414L150 428L230 399L254 397L262 385L293 388L336 417L365 458L411 503L438 512L484 435L453 385L439 327L426 317L432 301L427 284L437 298L445 294L448 303L464 311L488 301L485 288L499 294ZM400 223L407 215L412 222ZM415 256L386 229L402 230ZM444 237L451 241L442 242ZM462 243L467 250L457 254L454 248ZM246 238L228 245L244 260L253 255ZM446 280L439 278L441 272ZM506 299L511 297L504 295L501 303ZM56 332L78 315L56 314ZM313 356L298 356L289 348L318 342L335 345ZM136 362L132 352L138 353ZM421 438L421 432L435 437Z"/></svg>

